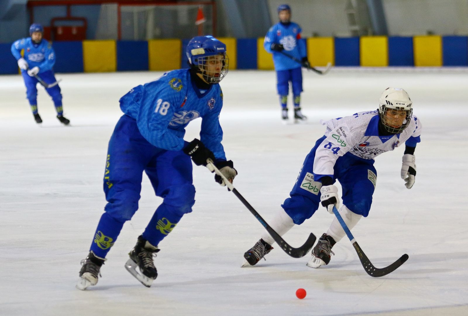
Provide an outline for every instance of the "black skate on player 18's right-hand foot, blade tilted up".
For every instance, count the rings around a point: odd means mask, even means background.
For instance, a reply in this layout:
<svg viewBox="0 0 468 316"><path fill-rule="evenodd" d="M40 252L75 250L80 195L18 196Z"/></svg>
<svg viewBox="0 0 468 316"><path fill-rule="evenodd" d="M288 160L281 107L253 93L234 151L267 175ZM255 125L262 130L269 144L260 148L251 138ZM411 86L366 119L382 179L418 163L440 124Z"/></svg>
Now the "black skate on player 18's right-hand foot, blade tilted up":
<svg viewBox="0 0 468 316"><path fill-rule="evenodd" d="M125 269L145 287L151 287L154 279L158 276L153 262L153 257L156 257L158 251L157 247L154 247L142 235L139 235L137 244L128 254L130 259L125 264ZM139 272L136 270L137 267Z"/></svg>

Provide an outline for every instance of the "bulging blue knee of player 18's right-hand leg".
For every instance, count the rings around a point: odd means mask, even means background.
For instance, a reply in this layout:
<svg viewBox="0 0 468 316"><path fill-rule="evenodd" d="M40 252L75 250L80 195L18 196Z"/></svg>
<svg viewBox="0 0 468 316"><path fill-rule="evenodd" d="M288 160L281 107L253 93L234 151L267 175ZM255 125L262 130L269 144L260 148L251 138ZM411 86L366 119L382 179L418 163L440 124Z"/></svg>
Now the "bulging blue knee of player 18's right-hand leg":
<svg viewBox="0 0 468 316"><path fill-rule="evenodd" d="M164 195L163 204L174 212L185 214L192 211L195 204L195 187L193 184L173 185L168 187L168 193Z"/></svg>

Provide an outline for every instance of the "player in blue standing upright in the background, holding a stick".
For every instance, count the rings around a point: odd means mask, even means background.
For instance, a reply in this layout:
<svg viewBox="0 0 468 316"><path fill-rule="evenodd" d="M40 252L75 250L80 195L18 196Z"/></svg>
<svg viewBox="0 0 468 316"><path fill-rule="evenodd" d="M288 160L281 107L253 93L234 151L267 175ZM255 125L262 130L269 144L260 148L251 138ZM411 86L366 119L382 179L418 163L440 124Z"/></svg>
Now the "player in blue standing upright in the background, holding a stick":
<svg viewBox="0 0 468 316"><path fill-rule="evenodd" d="M300 93L302 92L302 70L310 67L307 60L306 44L301 41L299 24L291 22L291 7L282 4L278 7L279 22L273 25L265 36L263 46L266 51L273 54L275 64L279 103L281 104L281 116L288 120L287 101L289 94L289 82L292 84L292 96L294 103L294 119L306 120L307 117L300 111ZM294 61L288 54L302 63Z"/></svg>

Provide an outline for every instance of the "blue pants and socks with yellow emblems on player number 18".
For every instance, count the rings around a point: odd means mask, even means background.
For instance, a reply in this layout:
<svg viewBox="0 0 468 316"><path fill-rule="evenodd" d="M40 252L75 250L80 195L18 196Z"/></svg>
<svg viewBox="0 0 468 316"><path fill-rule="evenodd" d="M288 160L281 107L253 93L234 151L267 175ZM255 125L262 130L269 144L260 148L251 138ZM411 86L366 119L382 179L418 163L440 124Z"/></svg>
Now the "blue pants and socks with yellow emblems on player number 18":
<svg viewBox="0 0 468 316"><path fill-rule="evenodd" d="M183 214L192 211L195 187L190 156L154 147L140 134L136 121L124 115L109 141L103 184L108 203L90 249L96 256L106 256L124 222L137 211L143 172L156 196L163 198L143 232L152 245L157 246Z"/></svg>

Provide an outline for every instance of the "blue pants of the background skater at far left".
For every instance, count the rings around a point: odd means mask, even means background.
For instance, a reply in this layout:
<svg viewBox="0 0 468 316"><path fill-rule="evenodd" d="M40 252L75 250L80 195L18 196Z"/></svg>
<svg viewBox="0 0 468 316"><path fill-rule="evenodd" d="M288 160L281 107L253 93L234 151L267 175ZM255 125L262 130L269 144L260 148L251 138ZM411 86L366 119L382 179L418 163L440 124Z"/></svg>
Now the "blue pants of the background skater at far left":
<svg viewBox="0 0 468 316"><path fill-rule="evenodd" d="M37 81L35 77L31 77L27 71L22 71L21 74L24 79L24 84L26 85L26 98L29 100L29 105L31 106L33 114L37 114L37 83L39 83L39 81ZM39 73L37 76L45 83L57 81L52 70ZM59 85L55 85L52 88L45 88L45 91L52 97L57 114L62 115L62 94L60 93Z"/></svg>

